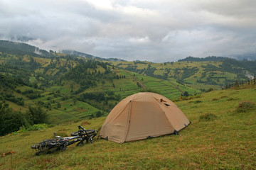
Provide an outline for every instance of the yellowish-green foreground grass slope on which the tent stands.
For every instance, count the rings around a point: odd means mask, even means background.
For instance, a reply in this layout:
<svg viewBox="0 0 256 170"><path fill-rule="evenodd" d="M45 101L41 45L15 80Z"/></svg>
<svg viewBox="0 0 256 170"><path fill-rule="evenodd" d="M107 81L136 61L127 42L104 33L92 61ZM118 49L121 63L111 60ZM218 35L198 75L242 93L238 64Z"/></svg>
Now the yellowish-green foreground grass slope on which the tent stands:
<svg viewBox="0 0 256 170"><path fill-rule="evenodd" d="M255 95L256 86L244 86L179 101L192 122L179 135L122 145L95 139L65 152L33 156L31 145L53 137L53 132L70 134L81 123L98 129L105 117L7 135L0 138L0 169L255 169L256 110L245 111L250 108L245 106L244 112L237 111L242 101L256 103Z"/></svg>

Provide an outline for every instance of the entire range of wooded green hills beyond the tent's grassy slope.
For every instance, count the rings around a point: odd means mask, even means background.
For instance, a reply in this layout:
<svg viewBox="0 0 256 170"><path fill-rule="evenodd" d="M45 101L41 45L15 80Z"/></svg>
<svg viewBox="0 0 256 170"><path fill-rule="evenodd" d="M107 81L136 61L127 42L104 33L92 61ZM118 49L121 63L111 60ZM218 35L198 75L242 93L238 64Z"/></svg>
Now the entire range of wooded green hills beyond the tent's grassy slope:
<svg viewBox="0 0 256 170"><path fill-rule="evenodd" d="M256 62L247 60L125 62L66 53L2 40L0 104L18 116L41 106L48 114L46 122L58 124L106 115L123 98L139 91L174 100L256 75Z"/></svg>

